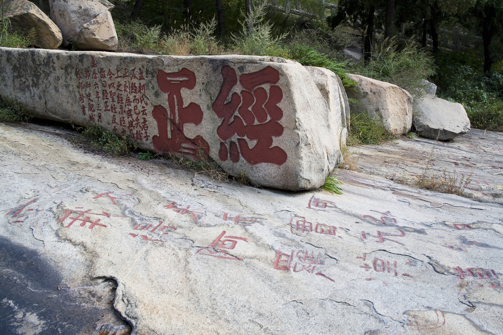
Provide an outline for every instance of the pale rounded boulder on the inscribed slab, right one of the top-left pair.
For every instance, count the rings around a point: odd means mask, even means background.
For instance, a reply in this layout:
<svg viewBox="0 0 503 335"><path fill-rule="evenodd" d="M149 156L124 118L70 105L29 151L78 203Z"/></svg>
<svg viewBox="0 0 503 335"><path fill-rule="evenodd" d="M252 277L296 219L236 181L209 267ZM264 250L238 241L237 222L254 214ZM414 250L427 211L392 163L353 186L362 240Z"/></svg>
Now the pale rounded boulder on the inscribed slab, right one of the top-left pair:
<svg viewBox="0 0 503 335"><path fill-rule="evenodd" d="M61 29L63 45L80 50L117 50L117 33L107 0L49 0L51 19Z"/></svg>

